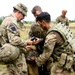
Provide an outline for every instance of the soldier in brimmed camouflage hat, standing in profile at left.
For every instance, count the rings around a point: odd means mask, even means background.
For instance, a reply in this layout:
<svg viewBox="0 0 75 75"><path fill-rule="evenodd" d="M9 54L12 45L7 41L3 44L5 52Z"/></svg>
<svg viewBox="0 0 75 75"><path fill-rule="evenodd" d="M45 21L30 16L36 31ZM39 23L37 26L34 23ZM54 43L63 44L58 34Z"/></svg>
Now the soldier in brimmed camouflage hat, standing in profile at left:
<svg viewBox="0 0 75 75"><path fill-rule="evenodd" d="M13 13L7 16L0 29L0 61L7 65L9 75L27 75L25 46L32 44L31 40L22 40L18 28L18 21L27 16L27 7L18 3L13 7ZM0 74L1 75L1 74Z"/></svg>

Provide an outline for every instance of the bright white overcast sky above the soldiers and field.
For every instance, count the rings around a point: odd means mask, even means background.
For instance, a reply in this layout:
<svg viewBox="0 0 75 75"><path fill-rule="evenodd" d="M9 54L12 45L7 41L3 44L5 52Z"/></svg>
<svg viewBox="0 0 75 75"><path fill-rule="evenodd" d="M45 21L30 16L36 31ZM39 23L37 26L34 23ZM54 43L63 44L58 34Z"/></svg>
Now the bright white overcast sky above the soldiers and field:
<svg viewBox="0 0 75 75"><path fill-rule="evenodd" d="M35 5L41 6L43 11L50 13L52 20L60 16L63 9L68 11L66 16L69 20L75 20L75 0L0 0L0 17L11 14L13 6L18 3L23 3L28 8L25 21L35 21L31 13Z"/></svg>

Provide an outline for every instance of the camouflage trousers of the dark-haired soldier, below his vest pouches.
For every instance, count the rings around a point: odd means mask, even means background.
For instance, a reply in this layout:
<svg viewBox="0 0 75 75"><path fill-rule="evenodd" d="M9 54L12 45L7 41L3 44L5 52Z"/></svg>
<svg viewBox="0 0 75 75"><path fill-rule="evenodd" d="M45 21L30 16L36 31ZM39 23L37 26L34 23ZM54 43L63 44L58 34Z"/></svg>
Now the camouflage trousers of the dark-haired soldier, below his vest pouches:
<svg viewBox="0 0 75 75"><path fill-rule="evenodd" d="M75 75L75 72L63 69L63 67L59 67L58 63L55 62L51 68L51 75Z"/></svg>

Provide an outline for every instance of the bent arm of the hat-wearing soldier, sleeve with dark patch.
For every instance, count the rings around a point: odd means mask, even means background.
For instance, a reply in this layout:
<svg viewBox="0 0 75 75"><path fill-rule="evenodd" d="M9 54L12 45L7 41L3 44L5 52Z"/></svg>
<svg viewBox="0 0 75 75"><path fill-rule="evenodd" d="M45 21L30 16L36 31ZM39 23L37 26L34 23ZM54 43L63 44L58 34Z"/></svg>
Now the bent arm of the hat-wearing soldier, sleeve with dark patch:
<svg viewBox="0 0 75 75"><path fill-rule="evenodd" d="M28 43L27 41L20 38L18 29L14 24L7 27L7 35L9 42L13 45L26 46Z"/></svg>

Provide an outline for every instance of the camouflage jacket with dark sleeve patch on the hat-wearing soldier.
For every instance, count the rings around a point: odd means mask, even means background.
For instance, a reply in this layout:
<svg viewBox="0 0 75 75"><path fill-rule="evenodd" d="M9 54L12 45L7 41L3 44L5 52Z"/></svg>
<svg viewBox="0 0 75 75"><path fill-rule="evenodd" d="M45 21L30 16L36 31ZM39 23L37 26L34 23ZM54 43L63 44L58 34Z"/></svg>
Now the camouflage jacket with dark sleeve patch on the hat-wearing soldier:
<svg viewBox="0 0 75 75"><path fill-rule="evenodd" d="M5 33L3 34L3 40L5 40L5 42L8 41L13 45L18 46L26 45L26 41L20 39L18 23L14 15L6 17L1 24L1 28L5 29Z"/></svg>

